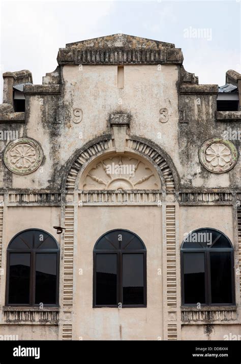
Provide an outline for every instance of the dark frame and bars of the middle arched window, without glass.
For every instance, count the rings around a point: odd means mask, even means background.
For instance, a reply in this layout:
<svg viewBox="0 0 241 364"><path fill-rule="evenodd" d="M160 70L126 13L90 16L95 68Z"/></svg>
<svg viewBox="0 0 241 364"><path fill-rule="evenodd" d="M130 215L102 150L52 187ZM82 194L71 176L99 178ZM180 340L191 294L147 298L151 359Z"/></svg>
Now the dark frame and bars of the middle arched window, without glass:
<svg viewBox="0 0 241 364"><path fill-rule="evenodd" d="M98 250L96 246L102 237L109 234L113 231L127 231L132 235L135 235L142 243L143 249L136 250L124 250L124 249L116 249L116 250ZM97 254L115 254L117 259L116 265L116 305L97 305L96 304L96 255ZM141 305L123 305L122 308L138 308L147 307L147 272L146 272L146 247L142 239L135 234L134 232L127 229L113 229L102 234L97 240L94 250L93 250L93 308L118 308L118 305L123 302L123 254L142 254L143 255L143 304Z"/></svg>

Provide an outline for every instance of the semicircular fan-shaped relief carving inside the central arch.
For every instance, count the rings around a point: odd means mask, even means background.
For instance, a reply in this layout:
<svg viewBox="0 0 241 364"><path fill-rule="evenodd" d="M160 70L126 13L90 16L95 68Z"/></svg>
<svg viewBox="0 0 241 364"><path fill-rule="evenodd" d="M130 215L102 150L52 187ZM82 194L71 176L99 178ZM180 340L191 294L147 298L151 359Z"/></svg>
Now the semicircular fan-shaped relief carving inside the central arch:
<svg viewBox="0 0 241 364"><path fill-rule="evenodd" d="M156 170L145 160L131 155L102 156L83 173L83 190L157 190L161 181Z"/></svg>

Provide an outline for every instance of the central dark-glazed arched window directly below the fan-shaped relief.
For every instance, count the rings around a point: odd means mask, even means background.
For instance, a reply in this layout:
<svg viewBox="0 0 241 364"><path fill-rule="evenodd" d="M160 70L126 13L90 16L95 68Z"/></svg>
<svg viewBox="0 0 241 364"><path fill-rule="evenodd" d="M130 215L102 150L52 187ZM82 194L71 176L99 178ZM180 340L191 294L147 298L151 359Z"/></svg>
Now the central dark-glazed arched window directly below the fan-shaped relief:
<svg viewBox="0 0 241 364"><path fill-rule="evenodd" d="M94 307L146 307L146 249L128 230L111 230L94 248Z"/></svg>

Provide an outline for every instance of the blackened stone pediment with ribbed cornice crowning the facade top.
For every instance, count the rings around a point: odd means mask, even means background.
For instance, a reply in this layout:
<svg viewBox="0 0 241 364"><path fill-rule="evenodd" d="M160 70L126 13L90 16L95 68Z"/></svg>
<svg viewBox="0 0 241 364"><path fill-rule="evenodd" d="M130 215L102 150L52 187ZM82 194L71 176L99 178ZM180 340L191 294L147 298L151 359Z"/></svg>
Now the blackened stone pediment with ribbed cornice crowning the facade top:
<svg viewBox="0 0 241 364"><path fill-rule="evenodd" d="M66 44L60 48L59 65L178 64L183 53L172 43L114 34Z"/></svg>

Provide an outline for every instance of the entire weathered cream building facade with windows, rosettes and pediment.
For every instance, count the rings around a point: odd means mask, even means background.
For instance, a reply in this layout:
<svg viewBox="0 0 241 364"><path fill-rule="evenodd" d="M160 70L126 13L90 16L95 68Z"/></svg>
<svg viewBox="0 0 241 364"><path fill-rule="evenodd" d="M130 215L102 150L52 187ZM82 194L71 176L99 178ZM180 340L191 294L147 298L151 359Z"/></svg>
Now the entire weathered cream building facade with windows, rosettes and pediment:
<svg viewBox="0 0 241 364"><path fill-rule="evenodd" d="M42 85L3 75L0 335L238 336L241 75L218 106L174 44L113 35L57 62Z"/></svg>

